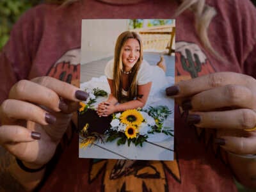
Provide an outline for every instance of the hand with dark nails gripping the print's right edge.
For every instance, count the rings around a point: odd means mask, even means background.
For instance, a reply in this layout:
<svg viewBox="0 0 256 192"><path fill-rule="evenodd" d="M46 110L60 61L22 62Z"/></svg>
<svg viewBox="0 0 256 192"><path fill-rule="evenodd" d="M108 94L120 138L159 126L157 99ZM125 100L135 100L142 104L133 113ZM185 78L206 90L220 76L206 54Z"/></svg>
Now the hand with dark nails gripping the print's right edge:
<svg viewBox="0 0 256 192"><path fill-rule="evenodd" d="M250 76L219 72L180 81L166 89L184 110L188 123L216 128L215 142L235 154L256 154L256 81Z"/></svg>

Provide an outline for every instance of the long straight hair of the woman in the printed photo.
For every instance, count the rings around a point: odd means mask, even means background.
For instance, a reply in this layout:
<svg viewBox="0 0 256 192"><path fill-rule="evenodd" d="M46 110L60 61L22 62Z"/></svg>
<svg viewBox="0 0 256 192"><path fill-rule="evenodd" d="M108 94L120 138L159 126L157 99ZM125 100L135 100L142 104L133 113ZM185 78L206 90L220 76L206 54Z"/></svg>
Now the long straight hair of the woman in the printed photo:
<svg viewBox="0 0 256 192"><path fill-rule="evenodd" d="M140 44L140 58L138 58L138 61L132 67L131 75L129 76L129 80L128 80L130 86L129 86L127 98L125 98L125 100L132 100L134 99L134 97L136 97L136 90L137 90L136 77L143 60L143 47L142 47L142 41L140 36L133 31L124 31L123 33L121 33L116 40L114 66L113 66L114 67L113 68L113 74L114 74L113 96L116 97L118 102L124 102L124 98L122 95L122 70L123 70L122 54L124 51L124 44L129 38L134 38L138 40Z"/></svg>

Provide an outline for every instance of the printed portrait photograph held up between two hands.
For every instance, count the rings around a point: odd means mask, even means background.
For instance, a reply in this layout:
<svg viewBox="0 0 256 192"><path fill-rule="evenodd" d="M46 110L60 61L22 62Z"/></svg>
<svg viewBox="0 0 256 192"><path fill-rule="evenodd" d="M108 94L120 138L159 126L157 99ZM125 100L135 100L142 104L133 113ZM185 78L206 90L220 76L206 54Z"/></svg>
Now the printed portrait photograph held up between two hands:
<svg viewBox="0 0 256 192"><path fill-rule="evenodd" d="M79 157L174 158L175 20L83 19Z"/></svg>

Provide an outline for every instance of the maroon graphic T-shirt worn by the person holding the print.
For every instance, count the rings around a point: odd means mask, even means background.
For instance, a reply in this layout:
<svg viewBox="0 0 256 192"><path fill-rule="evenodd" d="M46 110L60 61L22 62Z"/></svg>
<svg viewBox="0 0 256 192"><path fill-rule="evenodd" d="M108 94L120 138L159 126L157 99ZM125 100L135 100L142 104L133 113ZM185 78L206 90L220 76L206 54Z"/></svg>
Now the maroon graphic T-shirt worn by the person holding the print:
<svg viewBox="0 0 256 192"><path fill-rule="evenodd" d="M219 71L255 77L255 8L248 0L206 2L218 13L209 26L209 39L214 49L230 62L223 64L204 49L195 32L193 13L186 11L176 18L177 79ZM81 19L170 19L175 8L177 4L170 0L149 0L129 6L94 0L63 8L49 4L36 6L15 24L0 55L0 102L20 79L49 75L79 84ZM195 64L196 56L200 62ZM200 70L186 67L184 61L188 60L200 65ZM176 110L175 161L141 161L132 167L131 173L111 179L109 175L116 160L79 159L77 134L74 134L41 190L236 191L228 165L211 145L213 136L204 129L189 127Z"/></svg>

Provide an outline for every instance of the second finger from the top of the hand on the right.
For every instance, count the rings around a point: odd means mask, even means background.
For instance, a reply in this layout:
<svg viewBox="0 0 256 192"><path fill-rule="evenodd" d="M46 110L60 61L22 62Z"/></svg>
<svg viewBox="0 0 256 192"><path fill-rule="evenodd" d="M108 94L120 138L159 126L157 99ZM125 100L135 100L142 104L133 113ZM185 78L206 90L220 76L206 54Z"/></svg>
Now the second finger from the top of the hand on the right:
<svg viewBox="0 0 256 192"><path fill-rule="evenodd" d="M211 111L224 107L253 109L256 107L255 100L252 91L245 86L228 84L194 95L182 103L182 108L193 111Z"/></svg>

